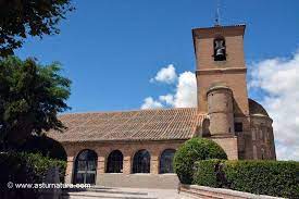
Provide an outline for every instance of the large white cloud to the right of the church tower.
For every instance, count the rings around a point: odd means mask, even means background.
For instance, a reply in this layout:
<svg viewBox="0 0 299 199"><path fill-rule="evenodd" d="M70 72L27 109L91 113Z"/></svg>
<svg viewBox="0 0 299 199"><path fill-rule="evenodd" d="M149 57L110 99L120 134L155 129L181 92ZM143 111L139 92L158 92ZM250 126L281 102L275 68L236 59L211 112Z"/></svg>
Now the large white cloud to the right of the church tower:
<svg viewBox="0 0 299 199"><path fill-rule="evenodd" d="M273 119L276 153L299 160L299 52L291 59L269 59L252 65L249 88L267 95L261 103Z"/></svg>

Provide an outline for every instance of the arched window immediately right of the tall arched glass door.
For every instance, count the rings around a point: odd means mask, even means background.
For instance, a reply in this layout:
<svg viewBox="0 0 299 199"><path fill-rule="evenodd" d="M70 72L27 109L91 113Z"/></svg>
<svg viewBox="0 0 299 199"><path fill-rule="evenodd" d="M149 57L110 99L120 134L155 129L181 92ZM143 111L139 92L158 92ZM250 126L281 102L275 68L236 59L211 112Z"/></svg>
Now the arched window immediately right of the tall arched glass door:
<svg viewBox="0 0 299 199"><path fill-rule="evenodd" d="M124 156L120 150L112 151L108 157L107 173L123 173Z"/></svg>

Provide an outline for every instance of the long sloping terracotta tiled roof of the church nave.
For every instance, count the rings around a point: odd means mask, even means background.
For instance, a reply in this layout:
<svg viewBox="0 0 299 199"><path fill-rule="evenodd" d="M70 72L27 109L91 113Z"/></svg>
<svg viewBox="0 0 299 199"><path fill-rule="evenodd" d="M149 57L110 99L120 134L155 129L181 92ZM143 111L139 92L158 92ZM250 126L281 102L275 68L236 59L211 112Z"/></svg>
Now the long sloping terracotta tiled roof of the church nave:
<svg viewBox="0 0 299 199"><path fill-rule="evenodd" d="M71 113L59 119L67 127L48 135L59 141L129 141L189 139L203 119L196 108L126 112Z"/></svg>

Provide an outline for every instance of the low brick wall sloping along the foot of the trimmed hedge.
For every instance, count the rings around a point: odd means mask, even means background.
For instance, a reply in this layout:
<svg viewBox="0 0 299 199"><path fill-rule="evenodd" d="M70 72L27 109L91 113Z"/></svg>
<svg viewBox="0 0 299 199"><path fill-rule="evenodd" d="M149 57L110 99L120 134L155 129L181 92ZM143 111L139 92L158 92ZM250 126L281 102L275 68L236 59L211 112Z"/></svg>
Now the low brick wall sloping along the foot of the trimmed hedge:
<svg viewBox="0 0 299 199"><path fill-rule="evenodd" d="M283 199L271 196L253 195L237 190L212 188L198 185L180 185L180 199Z"/></svg>

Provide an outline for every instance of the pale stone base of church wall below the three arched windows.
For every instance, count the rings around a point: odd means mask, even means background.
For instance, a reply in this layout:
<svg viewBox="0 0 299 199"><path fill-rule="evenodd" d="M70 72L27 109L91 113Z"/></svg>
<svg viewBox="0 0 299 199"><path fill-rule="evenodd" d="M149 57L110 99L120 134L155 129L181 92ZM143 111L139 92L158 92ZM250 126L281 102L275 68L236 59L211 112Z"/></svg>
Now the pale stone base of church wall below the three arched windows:
<svg viewBox="0 0 299 199"><path fill-rule="evenodd" d="M176 174L98 174L97 185L107 187L177 189Z"/></svg>

